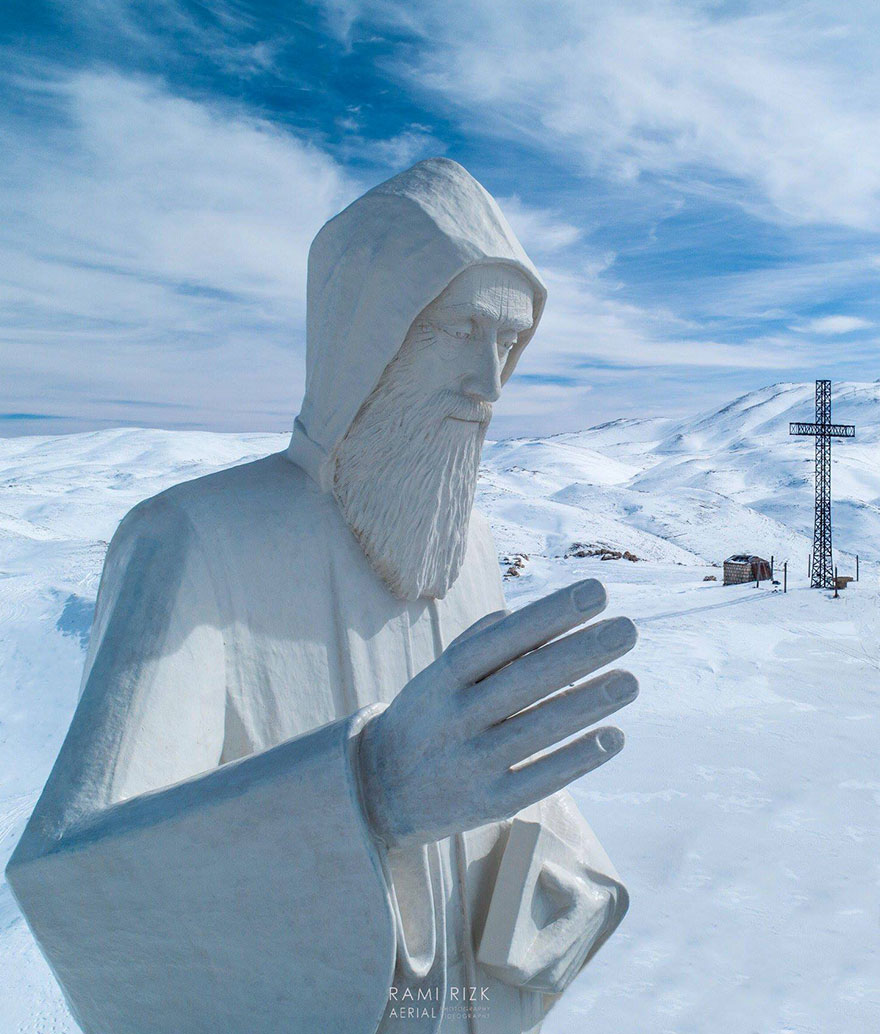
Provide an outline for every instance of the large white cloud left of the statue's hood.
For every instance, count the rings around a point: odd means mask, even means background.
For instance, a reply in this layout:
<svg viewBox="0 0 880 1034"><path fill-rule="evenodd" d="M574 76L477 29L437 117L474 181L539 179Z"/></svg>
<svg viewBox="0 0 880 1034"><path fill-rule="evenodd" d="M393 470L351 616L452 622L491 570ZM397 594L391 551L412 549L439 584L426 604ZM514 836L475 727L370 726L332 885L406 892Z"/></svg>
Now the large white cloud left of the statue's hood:
<svg viewBox="0 0 880 1034"><path fill-rule="evenodd" d="M306 257L359 192L261 119L117 74L34 81L7 126L2 407L283 427L298 403ZM11 375L18 371L17 375Z"/></svg>

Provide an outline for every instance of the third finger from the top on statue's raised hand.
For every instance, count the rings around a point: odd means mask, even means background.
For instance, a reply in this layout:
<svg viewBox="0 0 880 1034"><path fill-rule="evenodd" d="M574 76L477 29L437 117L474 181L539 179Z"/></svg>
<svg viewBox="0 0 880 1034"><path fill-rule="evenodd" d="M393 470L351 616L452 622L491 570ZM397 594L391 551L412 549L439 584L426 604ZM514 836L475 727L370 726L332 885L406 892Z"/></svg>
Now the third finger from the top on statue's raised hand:
<svg viewBox="0 0 880 1034"><path fill-rule="evenodd" d="M605 672L491 726L479 737L481 750L506 765L515 764L601 722L638 693L638 680L629 671Z"/></svg>

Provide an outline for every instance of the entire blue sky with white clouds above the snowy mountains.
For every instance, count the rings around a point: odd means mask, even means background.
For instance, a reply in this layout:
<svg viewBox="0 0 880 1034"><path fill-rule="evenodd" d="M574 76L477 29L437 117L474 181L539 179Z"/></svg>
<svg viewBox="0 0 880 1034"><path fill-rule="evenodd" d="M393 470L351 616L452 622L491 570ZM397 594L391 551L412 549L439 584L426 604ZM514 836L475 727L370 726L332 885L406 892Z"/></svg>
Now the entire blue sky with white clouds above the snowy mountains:
<svg viewBox="0 0 880 1034"><path fill-rule="evenodd" d="M287 428L311 238L434 154L550 288L493 435L880 376L875 4L78 0L0 33L0 434Z"/></svg>

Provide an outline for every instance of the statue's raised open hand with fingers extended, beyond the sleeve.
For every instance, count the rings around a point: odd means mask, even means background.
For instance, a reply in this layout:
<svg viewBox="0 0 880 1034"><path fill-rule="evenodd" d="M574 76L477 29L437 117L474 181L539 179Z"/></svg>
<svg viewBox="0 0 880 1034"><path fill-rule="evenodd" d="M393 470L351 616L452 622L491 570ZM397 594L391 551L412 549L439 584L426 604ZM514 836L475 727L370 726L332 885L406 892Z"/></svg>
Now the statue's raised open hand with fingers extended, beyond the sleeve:
<svg viewBox="0 0 880 1034"><path fill-rule="evenodd" d="M636 643L626 617L572 632L605 603L605 589L588 579L512 614L487 615L367 723L360 764L380 838L427 843L505 818L621 750L624 734L605 727L533 758L638 693L627 671L571 685Z"/></svg>

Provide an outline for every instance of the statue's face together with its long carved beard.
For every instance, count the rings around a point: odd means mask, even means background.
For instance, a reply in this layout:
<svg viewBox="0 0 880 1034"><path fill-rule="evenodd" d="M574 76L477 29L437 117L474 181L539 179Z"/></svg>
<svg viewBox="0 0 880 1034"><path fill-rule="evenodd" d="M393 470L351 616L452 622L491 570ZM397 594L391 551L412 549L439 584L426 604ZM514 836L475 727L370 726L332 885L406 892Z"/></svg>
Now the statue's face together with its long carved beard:
<svg viewBox="0 0 880 1034"><path fill-rule="evenodd" d="M532 287L505 266L466 270L425 308L336 451L334 493L397 596L458 577L483 438Z"/></svg>

